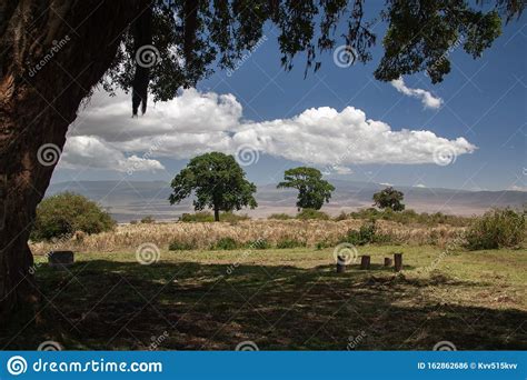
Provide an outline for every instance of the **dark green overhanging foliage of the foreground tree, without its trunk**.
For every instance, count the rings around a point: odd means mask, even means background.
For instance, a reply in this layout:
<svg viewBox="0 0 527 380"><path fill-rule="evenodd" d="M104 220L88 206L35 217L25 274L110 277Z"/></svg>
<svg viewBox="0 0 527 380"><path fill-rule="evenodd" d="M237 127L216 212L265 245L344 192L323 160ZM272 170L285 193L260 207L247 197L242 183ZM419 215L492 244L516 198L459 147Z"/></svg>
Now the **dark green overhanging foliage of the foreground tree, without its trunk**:
<svg viewBox="0 0 527 380"><path fill-rule="evenodd" d="M365 0L155 0L148 2L130 28L103 87L133 90L133 113L147 96L172 99L179 88L195 87L212 68L235 69L246 51L264 37L267 23L278 34L281 64L306 52L306 74L318 70L320 56L346 46L351 63L371 60L377 42L374 27L387 24L384 56L375 71L378 80L428 72L434 83L450 71L449 52L461 46L474 58L501 33L506 22L521 14L523 0L387 0L380 14L366 14ZM385 30L384 28L381 28ZM149 48L148 67L138 52ZM153 64L155 63L155 64Z"/></svg>

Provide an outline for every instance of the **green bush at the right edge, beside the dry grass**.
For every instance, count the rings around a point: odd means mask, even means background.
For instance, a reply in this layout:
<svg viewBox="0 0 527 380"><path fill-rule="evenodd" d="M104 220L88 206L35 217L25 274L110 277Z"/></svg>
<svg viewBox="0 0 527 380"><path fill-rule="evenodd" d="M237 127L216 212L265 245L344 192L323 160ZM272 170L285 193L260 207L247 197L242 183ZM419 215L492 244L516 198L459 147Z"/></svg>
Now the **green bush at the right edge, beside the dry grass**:
<svg viewBox="0 0 527 380"><path fill-rule="evenodd" d="M465 233L470 250L514 248L525 239L526 211L509 208L487 211Z"/></svg>

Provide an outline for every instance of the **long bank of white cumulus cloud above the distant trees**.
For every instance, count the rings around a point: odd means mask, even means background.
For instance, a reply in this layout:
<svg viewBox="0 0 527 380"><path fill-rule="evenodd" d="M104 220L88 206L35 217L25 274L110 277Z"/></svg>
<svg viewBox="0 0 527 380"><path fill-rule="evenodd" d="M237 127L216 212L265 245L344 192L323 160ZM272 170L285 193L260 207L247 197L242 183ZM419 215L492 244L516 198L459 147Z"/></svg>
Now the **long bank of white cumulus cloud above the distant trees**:
<svg viewBox="0 0 527 380"><path fill-rule="evenodd" d="M449 140L427 130L392 130L354 107L245 120L232 94L195 89L150 104L145 116L130 116L129 96L96 92L70 128L60 167L157 170L163 168L162 158L189 159L208 151L235 154L249 146L260 154L349 173L350 164L434 163L437 147L448 147L456 157L476 149L463 137Z"/></svg>

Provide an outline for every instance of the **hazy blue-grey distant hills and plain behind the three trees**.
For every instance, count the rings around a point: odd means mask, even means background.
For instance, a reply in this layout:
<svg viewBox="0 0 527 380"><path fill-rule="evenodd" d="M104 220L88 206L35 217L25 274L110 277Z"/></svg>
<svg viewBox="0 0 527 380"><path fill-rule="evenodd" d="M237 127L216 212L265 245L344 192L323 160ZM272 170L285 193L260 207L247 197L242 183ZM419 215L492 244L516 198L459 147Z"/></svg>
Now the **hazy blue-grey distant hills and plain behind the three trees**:
<svg viewBox="0 0 527 380"><path fill-rule="evenodd" d="M374 182L331 180L336 191L331 202L322 210L338 214L370 207L374 192L385 186ZM417 211L451 214L478 214L491 207L520 208L527 203L527 192L523 191L467 191L435 188L396 186L405 193L407 208ZM162 181L76 181L52 183L47 196L73 191L81 193L107 208L120 222L152 216L158 220L177 219L183 212L192 212L191 199L170 206L170 186ZM243 210L253 218L265 218L275 212L296 213L296 191L278 190L276 184L258 187L256 210Z"/></svg>

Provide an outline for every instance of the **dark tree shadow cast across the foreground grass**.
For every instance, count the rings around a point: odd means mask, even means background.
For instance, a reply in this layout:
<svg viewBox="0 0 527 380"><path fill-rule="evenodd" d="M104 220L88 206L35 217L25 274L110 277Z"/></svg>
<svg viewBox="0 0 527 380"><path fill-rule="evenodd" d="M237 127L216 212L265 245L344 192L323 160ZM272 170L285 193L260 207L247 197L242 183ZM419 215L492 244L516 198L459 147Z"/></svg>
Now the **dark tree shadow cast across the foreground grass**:
<svg viewBox="0 0 527 380"><path fill-rule="evenodd" d="M379 268L380 267L380 268ZM262 350L527 349L527 313L427 297L481 283L407 279L392 269L93 260L37 273L41 309L0 332L2 349L46 340L66 349ZM410 267L406 267L410 268Z"/></svg>

